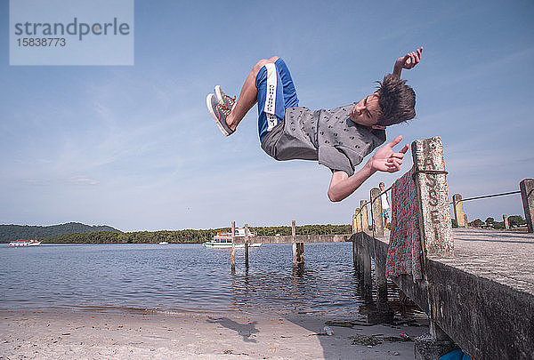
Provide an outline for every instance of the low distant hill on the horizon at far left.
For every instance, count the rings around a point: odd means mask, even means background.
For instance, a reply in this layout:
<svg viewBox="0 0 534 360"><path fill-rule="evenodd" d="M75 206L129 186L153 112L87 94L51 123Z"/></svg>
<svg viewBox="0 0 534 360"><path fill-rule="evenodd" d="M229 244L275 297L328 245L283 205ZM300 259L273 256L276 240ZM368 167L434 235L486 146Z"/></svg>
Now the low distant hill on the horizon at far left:
<svg viewBox="0 0 534 360"><path fill-rule="evenodd" d="M73 233L94 233L97 231L113 231L120 233L117 228L107 225L85 225L79 222L69 222L67 224L52 225L48 227L28 226L28 225L0 225L0 243L9 243L17 239L42 238L47 236L61 236Z"/></svg>

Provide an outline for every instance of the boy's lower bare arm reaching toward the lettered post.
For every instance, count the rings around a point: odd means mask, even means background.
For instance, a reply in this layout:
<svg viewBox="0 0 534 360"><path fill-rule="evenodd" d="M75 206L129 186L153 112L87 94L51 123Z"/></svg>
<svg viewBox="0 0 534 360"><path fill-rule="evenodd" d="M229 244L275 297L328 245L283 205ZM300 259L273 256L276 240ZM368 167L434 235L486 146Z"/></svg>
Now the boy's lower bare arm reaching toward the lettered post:
<svg viewBox="0 0 534 360"><path fill-rule="evenodd" d="M375 172L398 172L401 170L402 158L408 151L408 144L398 153L393 151L393 147L400 143L401 140L402 136L398 136L392 142L376 150L375 155L368 160L367 164L350 177L346 172L335 171L332 174L332 180L330 180L330 187L328 188L330 201L337 202L350 196Z"/></svg>

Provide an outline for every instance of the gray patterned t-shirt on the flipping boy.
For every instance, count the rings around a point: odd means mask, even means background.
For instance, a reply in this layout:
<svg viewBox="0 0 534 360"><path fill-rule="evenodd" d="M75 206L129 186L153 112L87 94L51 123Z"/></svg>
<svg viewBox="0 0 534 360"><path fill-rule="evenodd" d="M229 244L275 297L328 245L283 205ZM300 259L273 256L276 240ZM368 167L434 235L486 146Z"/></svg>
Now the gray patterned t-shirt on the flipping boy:
<svg viewBox="0 0 534 360"><path fill-rule="evenodd" d="M374 148L385 141L384 130L356 124L350 118L356 103L331 110L287 108L286 117L268 132L263 150L277 160L319 160L349 176Z"/></svg>

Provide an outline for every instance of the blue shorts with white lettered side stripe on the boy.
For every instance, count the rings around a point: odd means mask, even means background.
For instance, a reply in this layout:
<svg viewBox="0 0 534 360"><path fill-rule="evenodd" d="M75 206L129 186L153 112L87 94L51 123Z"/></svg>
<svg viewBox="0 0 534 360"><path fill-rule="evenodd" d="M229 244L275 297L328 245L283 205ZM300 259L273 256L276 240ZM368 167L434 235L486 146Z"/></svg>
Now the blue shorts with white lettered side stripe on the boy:
<svg viewBox="0 0 534 360"><path fill-rule="evenodd" d="M263 66L255 78L258 89L258 133L263 141L267 132L286 116L286 108L298 107L295 84L284 60Z"/></svg>

